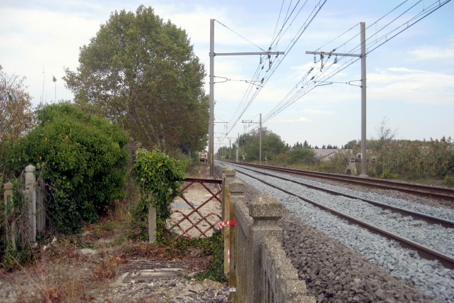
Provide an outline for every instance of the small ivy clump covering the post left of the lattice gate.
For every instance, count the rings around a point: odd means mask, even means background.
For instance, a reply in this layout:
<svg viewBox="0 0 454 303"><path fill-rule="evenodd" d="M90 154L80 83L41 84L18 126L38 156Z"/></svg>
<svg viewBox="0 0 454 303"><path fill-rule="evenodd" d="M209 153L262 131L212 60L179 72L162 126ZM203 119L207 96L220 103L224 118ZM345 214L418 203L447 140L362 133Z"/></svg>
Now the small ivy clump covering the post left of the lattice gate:
<svg viewBox="0 0 454 303"><path fill-rule="evenodd" d="M148 206L156 207L157 240L164 235L165 221L170 218L170 204L179 194L187 162L170 158L160 150L139 149L133 167L135 182L140 186L140 201L133 214L133 227L147 238Z"/></svg>

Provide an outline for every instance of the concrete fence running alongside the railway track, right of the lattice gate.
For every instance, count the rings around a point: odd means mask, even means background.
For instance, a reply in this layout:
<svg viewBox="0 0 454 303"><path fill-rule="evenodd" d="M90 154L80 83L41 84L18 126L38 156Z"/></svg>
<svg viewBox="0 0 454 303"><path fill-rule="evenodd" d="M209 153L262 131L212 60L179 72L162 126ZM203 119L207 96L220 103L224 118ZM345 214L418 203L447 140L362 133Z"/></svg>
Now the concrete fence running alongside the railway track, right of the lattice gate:
<svg viewBox="0 0 454 303"><path fill-rule="evenodd" d="M262 194L246 206L244 184L234 176L231 167L223 172L231 302L316 302L282 249L282 204Z"/></svg>

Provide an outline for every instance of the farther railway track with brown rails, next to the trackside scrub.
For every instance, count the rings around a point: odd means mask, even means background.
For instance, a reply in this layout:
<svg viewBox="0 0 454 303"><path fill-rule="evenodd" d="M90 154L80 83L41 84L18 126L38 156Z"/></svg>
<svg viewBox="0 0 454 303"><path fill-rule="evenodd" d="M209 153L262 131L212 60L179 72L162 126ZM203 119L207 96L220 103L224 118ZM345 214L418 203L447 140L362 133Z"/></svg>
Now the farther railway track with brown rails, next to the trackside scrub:
<svg viewBox="0 0 454 303"><path fill-rule="evenodd" d="M231 165L236 164L235 162L228 162ZM275 167L269 165L255 165L250 163L237 163L249 167L262 168L265 170L273 170L277 172L292 173L295 175L317 177L326 180L333 180L338 182L344 182L349 184L358 184L366 187L376 187L380 189L393 189L399 192L405 192L407 194L414 194L421 197L430 197L432 199L444 199L454 203L454 189L445 187L436 187L423 184L414 184L407 182L396 182L391 180L382 180L377 178L363 178L349 175L337 175L328 172L313 172L310 170L295 170L287 167Z"/></svg>

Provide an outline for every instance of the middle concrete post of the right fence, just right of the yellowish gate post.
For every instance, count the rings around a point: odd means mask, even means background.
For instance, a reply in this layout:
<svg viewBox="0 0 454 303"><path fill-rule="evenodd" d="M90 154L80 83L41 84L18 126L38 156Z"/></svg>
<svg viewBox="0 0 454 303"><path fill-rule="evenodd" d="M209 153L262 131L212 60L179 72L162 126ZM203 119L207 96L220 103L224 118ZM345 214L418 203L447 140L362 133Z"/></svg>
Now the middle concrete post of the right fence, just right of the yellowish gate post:
<svg viewBox="0 0 454 303"><path fill-rule="evenodd" d="M229 206L229 220L235 220L236 219L236 214L235 214L235 209L236 209L236 204L244 204L245 203L245 197L244 197L244 183L239 180L235 179L232 182L228 184L228 193L229 199L228 202L230 204ZM229 285L231 289L233 287L236 287L236 264L235 264L235 237L236 233L234 232L235 230L233 228L238 228L238 226L228 226L229 227L229 237L228 237L228 248L230 248L230 264L225 262L224 264L227 263L229 266L228 269L228 280L229 280ZM225 239L225 237L224 237ZM225 240L224 240L225 241ZM224 249L226 248L226 242L224 242ZM225 267L224 267L225 268ZM231 292L230 295L231 302L235 302L236 299L236 293Z"/></svg>

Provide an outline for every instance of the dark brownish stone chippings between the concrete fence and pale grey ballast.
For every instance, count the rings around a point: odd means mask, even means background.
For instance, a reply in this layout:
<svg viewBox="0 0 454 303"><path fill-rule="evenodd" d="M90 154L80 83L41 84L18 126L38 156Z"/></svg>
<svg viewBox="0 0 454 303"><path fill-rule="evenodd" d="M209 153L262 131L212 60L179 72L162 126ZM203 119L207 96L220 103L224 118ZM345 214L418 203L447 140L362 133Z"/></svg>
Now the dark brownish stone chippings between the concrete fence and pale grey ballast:
<svg viewBox="0 0 454 303"><path fill-rule="evenodd" d="M416 288L287 213L283 246L318 302L420 302ZM426 299L427 302L430 300Z"/></svg>

